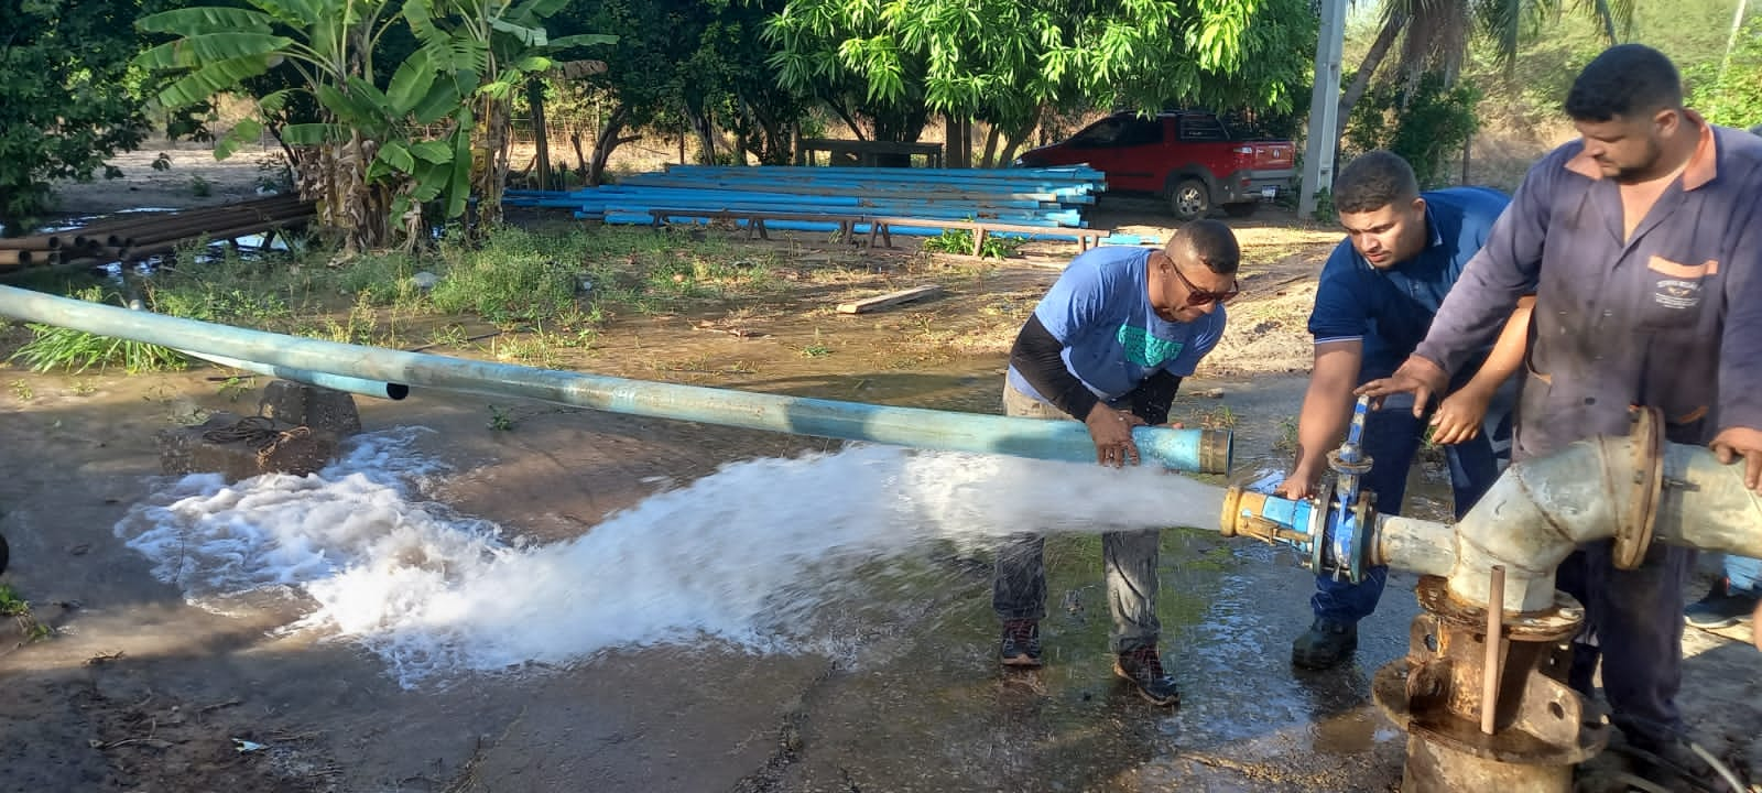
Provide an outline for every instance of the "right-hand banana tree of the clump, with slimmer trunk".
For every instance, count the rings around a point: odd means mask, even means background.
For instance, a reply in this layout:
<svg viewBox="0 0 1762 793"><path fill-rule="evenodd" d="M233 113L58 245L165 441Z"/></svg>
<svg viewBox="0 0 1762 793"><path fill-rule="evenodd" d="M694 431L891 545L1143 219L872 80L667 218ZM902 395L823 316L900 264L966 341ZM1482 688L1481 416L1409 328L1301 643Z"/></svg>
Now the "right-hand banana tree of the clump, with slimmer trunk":
<svg viewBox="0 0 1762 793"><path fill-rule="evenodd" d="M502 220L507 185L509 118L515 97L537 74L566 69L553 60L569 48L611 44L615 35L583 33L552 39L544 19L569 0L405 0L409 21L423 53L439 70L462 76L470 88L470 111L478 120L469 145L470 185L478 196L478 220ZM583 65L583 69L587 69Z"/></svg>

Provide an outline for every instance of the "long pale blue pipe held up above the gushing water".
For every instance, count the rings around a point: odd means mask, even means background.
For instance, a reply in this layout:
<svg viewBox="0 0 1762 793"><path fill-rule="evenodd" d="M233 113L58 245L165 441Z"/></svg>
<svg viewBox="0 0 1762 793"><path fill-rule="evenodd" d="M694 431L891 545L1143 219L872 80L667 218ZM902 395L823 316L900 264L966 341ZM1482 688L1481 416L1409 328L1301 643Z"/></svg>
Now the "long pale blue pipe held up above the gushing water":
<svg viewBox="0 0 1762 793"><path fill-rule="evenodd" d="M1077 421L867 405L402 352L164 317L14 287L0 287L0 315L270 367L444 391L923 449L1094 460L1089 430ZM1225 430L1140 426L1133 430L1133 439L1147 463L1189 472L1230 469L1232 444Z"/></svg>

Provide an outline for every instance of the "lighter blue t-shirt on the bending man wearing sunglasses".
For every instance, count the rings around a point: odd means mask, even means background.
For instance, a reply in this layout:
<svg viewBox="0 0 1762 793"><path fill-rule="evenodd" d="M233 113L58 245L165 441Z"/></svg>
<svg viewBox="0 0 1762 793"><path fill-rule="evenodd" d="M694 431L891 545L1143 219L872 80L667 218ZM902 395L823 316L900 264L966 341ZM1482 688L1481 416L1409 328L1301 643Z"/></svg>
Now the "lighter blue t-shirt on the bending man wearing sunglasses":
<svg viewBox="0 0 1762 793"><path fill-rule="evenodd" d="M1156 372L1191 375L1223 337L1221 305L1195 322L1158 317L1149 263L1151 248L1089 250L1071 259L1034 308L1040 324L1064 345L1064 368L1103 402L1124 396ZM1015 367L1010 384L1047 400Z"/></svg>

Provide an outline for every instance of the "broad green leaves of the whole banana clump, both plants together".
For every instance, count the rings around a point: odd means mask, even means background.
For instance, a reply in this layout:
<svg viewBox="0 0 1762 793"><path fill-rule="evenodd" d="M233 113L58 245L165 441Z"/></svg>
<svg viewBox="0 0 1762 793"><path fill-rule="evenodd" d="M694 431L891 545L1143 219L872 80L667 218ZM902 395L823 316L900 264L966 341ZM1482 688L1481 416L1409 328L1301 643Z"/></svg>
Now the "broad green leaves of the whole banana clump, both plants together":
<svg viewBox="0 0 1762 793"><path fill-rule="evenodd" d="M444 219L460 217L474 162L488 174L478 182L488 192L485 203L499 210L506 148L492 143L474 152L479 120L492 139L502 139L509 97L527 74L553 65L544 53L604 41L548 37L541 19L567 0L247 2L143 18L143 32L174 39L136 63L164 76L159 100L167 107L248 92L284 63L296 70L301 85L257 95L257 118L236 125L215 155L255 139L264 123L285 118L291 99L308 95L319 118L289 123L278 136L312 153L301 167L301 192L319 199L321 220L342 229L349 248L388 245L393 229L407 241L421 238L430 203ZM375 55L400 21L419 46L381 81Z"/></svg>

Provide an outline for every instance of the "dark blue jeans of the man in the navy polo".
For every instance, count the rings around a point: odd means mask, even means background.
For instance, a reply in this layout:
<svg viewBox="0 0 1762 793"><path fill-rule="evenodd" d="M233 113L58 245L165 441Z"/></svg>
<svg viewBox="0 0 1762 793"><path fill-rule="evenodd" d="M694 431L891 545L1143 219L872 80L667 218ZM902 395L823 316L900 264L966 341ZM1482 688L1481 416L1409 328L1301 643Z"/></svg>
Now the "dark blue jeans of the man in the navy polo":
<svg viewBox="0 0 1762 793"><path fill-rule="evenodd" d="M1487 488L1499 476L1499 463L1510 462L1512 407L1515 402L1517 388L1508 382L1487 405L1480 435L1468 442L1445 446L1457 520L1468 515L1468 508L1487 493ZM1371 411L1366 416L1364 451L1371 455L1371 472L1359 479L1359 486L1376 493L1380 515L1401 515L1401 500L1408 492L1408 469L1425 437L1425 423L1427 419L1413 418L1413 396L1410 395L1390 396L1381 411ZM1355 624L1376 611L1376 601L1381 599L1387 580L1388 567L1367 569L1364 582L1359 583L1318 574L1316 594L1309 599L1309 606L1316 617Z"/></svg>

